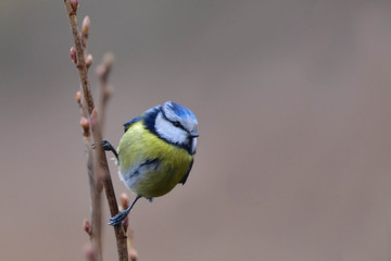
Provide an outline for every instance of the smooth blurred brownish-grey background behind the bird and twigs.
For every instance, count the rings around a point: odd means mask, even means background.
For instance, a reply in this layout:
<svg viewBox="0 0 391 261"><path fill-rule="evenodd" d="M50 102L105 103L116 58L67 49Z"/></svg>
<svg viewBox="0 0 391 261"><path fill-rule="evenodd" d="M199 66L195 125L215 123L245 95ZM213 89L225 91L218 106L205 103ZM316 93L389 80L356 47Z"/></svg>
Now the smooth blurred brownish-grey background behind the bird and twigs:
<svg viewBox="0 0 391 261"><path fill-rule="evenodd" d="M80 0L85 14L94 64L116 57L109 140L166 100L200 123L188 183L131 212L140 261L391 260L390 1ZM0 29L0 259L84 260L63 1L2 0ZM110 227L104 245L116 260Z"/></svg>

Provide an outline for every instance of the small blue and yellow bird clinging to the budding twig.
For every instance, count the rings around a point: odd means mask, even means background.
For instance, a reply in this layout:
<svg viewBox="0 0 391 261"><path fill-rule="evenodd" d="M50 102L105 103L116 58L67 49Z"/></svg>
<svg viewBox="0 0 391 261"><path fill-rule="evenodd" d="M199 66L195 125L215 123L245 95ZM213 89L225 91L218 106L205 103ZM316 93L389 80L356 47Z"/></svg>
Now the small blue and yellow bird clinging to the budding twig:
<svg viewBox="0 0 391 261"><path fill-rule="evenodd" d="M185 185L193 165L198 121L186 107L166 101L124 124L117 151L108 141L102 147L116 157L122 182L136 195L129 208L110 217L119 225L136 201L161 197L177 184Z"/></svg>

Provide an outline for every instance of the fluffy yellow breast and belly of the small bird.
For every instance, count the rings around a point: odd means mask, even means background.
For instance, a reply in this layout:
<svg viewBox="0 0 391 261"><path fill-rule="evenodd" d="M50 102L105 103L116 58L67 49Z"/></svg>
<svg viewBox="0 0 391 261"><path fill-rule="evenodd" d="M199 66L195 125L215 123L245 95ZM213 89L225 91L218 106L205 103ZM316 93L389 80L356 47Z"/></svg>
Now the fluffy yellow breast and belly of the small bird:
<svg viewBox="0 0 391 261"><path fill-rule="evenodd" d="M171 145L134 123L118 146L119 176L135 194L154 198L169 192L192 161L185 149Z"/></svg>

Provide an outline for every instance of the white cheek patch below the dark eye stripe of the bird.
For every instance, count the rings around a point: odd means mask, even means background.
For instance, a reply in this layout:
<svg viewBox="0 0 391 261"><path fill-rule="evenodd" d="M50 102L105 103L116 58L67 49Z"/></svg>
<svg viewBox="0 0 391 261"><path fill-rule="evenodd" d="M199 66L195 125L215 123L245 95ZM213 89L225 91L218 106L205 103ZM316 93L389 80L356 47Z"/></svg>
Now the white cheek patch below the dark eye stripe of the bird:
<svg viewBox="0 0 391 261"><path fill-rule="evenodd" d="M166 121L162 114L157 114L155 120L156 133L163 138L175 144L185 144L187 141L187 133L175 127L171 122Z"/></svg>

